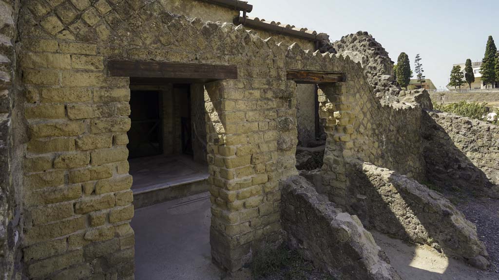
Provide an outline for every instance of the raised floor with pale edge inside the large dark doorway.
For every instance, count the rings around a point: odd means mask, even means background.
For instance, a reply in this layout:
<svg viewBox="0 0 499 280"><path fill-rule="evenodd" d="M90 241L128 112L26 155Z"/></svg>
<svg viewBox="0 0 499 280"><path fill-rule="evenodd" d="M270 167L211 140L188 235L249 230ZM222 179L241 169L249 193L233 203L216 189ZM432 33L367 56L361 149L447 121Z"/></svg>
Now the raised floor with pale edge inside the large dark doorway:
<svg viewBox="0 0 499 280"><path fill-rule="evenodd" d="M129 160L134 194L192 183L208 178L208 166L189 155L148 156Z"/></svg>

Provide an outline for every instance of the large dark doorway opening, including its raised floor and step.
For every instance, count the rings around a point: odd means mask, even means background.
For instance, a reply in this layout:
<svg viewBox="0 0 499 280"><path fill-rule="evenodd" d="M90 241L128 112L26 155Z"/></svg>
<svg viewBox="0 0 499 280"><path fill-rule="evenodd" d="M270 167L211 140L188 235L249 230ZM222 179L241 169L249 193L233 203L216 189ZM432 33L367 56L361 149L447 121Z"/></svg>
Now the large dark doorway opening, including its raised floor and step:
<svg viewBox="0 0 499 280"><path fill-rule="evenodd" d="M128 133L134 205L206 191L204 84L134 83Z"/></svg>

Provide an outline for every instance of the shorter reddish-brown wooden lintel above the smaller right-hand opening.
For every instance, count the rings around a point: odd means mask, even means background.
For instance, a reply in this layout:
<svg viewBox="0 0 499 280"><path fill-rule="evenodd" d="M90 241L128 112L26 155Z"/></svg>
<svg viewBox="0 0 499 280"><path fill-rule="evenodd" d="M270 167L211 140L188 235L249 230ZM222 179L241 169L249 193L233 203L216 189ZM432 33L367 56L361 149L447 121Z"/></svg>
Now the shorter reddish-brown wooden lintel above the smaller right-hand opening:
<svg viewBox="0 0 499 280"><path fill-rule="evenodd" d="M286 77L297 84L331 84L346 81L346 75L343 72L288 69Z"/></svg>

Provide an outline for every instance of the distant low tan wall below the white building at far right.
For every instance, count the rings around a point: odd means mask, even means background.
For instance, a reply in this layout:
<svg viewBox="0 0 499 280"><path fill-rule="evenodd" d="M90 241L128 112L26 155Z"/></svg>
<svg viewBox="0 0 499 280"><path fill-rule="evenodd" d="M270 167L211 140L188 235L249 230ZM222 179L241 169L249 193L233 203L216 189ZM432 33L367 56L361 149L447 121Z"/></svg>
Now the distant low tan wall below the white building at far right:
<svg viewBox="0 0 499 280"><path fill-rule="evenodd" d="M472 93L433 92L430 98L436 103L458 103L460 101L487 103L491 107L499 107L499 91L481 91Z"/></svg>

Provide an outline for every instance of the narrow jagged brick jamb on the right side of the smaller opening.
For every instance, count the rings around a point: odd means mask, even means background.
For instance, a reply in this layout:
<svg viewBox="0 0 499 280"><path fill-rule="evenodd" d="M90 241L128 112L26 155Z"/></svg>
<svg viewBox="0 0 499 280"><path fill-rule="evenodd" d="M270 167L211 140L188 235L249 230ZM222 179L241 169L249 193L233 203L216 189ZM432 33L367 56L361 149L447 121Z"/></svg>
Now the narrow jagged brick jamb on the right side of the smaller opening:
<svg viewBox="0 0 499 280"><path fill-rule="evenodd" d="M338 206L345 206L347 178L345 157L352 155L355 138L352 114L353 104L340 84L320 85L319 117L327 135L322 166L322 182L329 199Z"/></svg>

